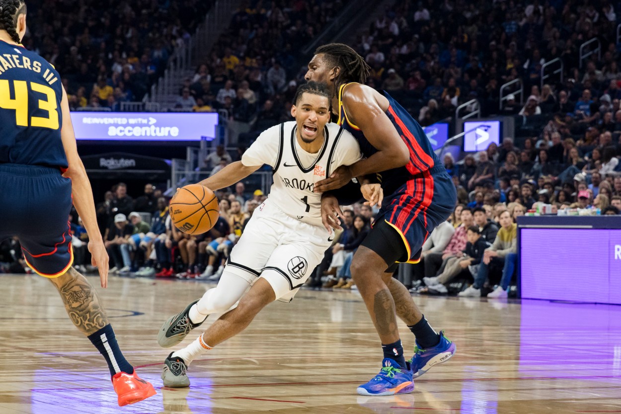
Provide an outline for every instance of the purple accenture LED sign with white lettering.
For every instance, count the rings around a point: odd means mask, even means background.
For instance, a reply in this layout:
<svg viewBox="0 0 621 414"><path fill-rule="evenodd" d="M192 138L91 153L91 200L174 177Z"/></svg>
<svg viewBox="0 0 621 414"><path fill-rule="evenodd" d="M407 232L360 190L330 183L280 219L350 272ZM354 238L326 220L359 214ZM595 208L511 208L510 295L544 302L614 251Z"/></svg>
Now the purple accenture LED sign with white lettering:
<svg viewBox="0 0 621 414"><path fill-rule="evenodd" d="M215 138L216 113L72 112L76 139L199 141Z"/></svg>

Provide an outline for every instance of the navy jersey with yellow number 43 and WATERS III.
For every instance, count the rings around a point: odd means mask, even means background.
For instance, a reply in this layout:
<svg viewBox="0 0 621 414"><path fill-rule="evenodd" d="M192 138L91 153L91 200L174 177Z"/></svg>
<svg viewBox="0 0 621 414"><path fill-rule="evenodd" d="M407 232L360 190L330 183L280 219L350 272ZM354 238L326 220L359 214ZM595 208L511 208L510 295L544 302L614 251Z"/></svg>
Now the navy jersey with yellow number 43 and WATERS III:
<svg viewBox="0 0 621 414"><path fill-rule="evenodd" d="M66 168L60 75L24 47L0 40L0 163Z"/></svg>

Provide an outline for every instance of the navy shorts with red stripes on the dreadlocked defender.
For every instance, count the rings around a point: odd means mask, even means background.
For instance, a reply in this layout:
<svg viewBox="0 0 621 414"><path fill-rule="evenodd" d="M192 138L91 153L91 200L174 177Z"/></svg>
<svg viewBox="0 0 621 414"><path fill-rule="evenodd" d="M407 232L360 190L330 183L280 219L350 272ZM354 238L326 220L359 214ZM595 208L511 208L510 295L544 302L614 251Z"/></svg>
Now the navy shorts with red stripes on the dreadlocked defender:
<svg viewBox="0 0 621 414"><path fill-rule="evenodd" d="M442 166L416 175L386 196L361 246L376 252L396 270L396 262L418 263L422 246L438 224L453 213L457 192Z"/></svg>

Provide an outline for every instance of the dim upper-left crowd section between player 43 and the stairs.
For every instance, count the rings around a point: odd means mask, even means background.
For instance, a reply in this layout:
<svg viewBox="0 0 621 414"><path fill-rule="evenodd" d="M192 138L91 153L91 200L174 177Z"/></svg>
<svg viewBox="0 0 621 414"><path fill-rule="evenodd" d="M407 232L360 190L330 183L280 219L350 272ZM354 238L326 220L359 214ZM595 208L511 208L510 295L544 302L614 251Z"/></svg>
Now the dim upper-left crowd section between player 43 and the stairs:
<svg viewBox="0 0 621 414"><path fill-rule="evenodd" d="M25 47L57 68L71 109L119 110L142 100L213 3L30 0Z"/></svg>

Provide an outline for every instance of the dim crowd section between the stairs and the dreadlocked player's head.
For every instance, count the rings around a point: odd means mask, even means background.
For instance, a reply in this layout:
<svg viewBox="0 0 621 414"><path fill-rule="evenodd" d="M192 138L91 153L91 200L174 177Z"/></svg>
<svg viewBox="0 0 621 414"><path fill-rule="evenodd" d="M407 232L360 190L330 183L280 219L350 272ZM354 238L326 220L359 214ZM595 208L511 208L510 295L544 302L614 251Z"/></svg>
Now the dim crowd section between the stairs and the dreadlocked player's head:
<svg viewBox="0 0 621 414"><path fill-rule="evenodd" d="M297 85L304 81L299 50L347 1L247 1L194 76L179 85L175 108L225 110L232 145L248 144L261 131L288 121Z"/></svg>

